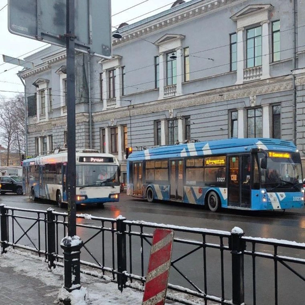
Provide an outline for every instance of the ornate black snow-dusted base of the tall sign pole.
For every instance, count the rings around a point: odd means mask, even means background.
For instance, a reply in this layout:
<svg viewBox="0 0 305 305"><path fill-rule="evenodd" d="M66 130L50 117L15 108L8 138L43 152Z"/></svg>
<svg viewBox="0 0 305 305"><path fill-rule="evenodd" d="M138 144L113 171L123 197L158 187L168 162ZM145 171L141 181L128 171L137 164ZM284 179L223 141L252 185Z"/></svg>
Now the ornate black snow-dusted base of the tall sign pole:
<svg viewBox="0 0 305 305"><path fill-rule="evenodd" d="M71 292L80 289L80 248L82 240L78 236L66 236L60 242L60 247L64 250L64 288Z"/></svg>

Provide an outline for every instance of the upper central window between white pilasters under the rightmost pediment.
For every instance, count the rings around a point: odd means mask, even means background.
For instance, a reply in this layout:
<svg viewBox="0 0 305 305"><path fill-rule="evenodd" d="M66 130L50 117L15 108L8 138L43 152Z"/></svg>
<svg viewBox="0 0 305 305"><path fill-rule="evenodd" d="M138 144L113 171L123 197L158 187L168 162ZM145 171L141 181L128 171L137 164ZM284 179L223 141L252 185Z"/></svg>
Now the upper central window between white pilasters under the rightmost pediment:
<svg viewBox="0 0 305 305"><path fill-rule="evenodd" d="M262 65L262 27L247 29L247 68Z"/></svg>

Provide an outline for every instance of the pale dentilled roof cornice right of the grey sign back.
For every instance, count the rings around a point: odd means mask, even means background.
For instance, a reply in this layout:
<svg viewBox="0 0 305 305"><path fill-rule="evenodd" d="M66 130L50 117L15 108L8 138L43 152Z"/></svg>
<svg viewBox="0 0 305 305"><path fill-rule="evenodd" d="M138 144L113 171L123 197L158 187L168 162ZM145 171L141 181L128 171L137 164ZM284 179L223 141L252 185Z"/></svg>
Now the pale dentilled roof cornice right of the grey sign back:
<svg viewBox="0 0 305 305"><path fill-rule="evenodd" d="M112 47L126 44L131 41L141 39L142 37L145 37L147 35L164 31L165 28L169 28L174 25L189 21L191 19L214 13L217 10L227 8L229 6L236 5L244 1L245 0L202 1L199 3L195 3L193 6L181 8L181 10L174 11L169 15L160 17L157 20L153 20L151 22L139 25L138 27L127 30L126 32L124 32L123 27L123 32L120 33L123 37L121 39L112 40Z"/></svg>

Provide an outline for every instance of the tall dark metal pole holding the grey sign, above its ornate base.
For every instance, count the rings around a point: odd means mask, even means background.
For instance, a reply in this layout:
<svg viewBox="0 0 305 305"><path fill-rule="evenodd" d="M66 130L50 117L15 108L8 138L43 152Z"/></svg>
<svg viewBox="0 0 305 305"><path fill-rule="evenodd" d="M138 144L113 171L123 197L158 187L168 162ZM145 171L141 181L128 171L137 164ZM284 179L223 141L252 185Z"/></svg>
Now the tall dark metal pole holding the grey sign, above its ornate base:
<svg viewBox="0 0 305 305"><path fill-rule="evenodd" d="M74 0L67 0L67 195L68 235L76 235L76 157L75 157L75 35Z"/></svg>

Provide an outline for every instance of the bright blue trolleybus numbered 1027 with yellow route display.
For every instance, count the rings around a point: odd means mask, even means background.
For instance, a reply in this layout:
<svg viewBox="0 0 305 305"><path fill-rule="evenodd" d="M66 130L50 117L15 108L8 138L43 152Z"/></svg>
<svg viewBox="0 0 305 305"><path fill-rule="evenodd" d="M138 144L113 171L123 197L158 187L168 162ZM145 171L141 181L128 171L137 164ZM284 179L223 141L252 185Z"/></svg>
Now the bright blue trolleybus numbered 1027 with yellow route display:
<svg viewBox="0 0 305 305"><path fill-rule="evenodd" d="M220 208L302 208L301 158L288 141L225 139L134 151L127 194Z"/></svg>

